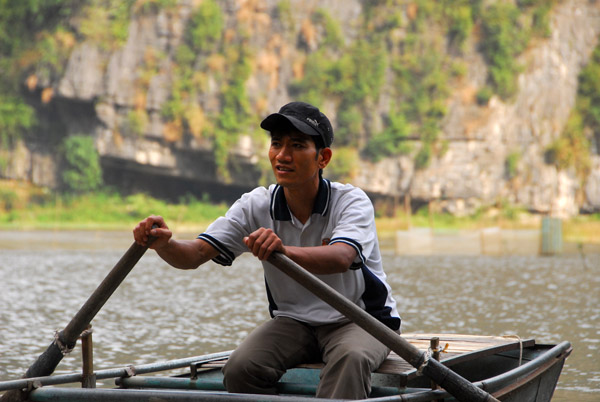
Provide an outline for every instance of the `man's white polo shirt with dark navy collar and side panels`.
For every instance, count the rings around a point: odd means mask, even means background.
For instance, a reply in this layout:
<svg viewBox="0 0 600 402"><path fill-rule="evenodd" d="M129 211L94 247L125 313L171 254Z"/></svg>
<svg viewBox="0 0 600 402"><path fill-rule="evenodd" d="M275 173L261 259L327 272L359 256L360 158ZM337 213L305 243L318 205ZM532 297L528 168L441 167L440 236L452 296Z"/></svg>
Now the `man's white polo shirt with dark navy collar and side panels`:
<svg viewBox="0 0 600 402"><path fill-rule="evenodd" d="M286 246L342 242L354 247L357 257L348 271L317 276L388 327L400 328L396 301L382 267L373 205L361 189L321 179L313 213L302 224L290 212L283 187L258 187L244 194L198 238L220 252L215 262L231 265L237 256L249 252L243 238L261 227L272 229ZM347 321L275 266L262 263L272 317L291 317L310 325Z"/></svg>

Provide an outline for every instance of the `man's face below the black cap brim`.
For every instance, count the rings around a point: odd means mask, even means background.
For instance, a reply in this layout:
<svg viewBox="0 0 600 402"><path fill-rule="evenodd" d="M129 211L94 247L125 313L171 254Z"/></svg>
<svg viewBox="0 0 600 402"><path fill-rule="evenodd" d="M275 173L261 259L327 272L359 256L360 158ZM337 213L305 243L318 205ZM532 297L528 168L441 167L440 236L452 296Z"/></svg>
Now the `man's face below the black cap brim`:
<svg viewBox="0 0 600 402"><path fill-rule="evenodd" d="M313 139L298 131L273 132L269 160L277 184L289 188L318 183L319 169L327 165Z"/></svg>

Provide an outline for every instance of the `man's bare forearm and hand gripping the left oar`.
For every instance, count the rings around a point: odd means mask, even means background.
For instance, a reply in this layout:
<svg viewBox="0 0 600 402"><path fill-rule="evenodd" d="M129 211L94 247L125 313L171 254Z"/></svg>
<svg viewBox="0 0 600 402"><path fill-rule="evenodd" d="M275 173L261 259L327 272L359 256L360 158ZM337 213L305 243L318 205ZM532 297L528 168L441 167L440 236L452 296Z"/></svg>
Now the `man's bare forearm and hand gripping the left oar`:
<svg viewBox="0 0 600 402"><path fill-rule="evenodd" d="M156 228L152 226L156 225ZM150 236L155 238L149 246L171 266L179 269L195 269L208 260L215 258L219 252L201 239L175 240L173 233L161 216L149 216L133 229L136 243L146 246Z"/></svg>

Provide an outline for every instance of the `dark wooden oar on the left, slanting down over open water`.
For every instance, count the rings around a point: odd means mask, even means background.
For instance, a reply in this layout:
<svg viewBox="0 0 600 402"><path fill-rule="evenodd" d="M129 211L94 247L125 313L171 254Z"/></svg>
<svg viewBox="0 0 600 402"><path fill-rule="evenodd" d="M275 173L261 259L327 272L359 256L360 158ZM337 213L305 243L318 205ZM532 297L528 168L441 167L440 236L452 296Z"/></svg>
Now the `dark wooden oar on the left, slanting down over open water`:
<svg viewBox="0 0 600 402"><path fill-rule="evenodd" d="M148 245L153 240L153 238L150 238ZM60 363L63 356L69 353L75 346L79 335L86 329L87 325L96 316L98 311L100 311L102 306L104 306L121 282L123 282L127 274L131 272L147 249L148 246L140 246L137 243L133 243L129 247L129 250L127 250L119 262L108 273L100 286L92 293L69 324L56 334L54 341L48 346L46 351L29 367L23 378L43 377L54 372L54 369ZM8 391L0 397L1 402L24 401L26 399L27 392L22 390Z"/></svg>

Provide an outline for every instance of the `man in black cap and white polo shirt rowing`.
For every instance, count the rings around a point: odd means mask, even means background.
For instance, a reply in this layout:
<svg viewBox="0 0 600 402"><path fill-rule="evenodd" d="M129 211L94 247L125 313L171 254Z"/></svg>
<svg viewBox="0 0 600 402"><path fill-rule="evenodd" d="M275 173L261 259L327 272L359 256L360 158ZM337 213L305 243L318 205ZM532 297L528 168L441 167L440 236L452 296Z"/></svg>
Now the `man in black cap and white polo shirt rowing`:
<svg viewBox="0 0 600 402"><path fill-rule="evenodd" d="M273 318L231 354L223 369L229 392L274 394L287 369L323 361L317 397L366 398L371 372L389 349L266 260L273 252L285 254L399 332L373 206L362 190L322 178L333 129L318 108L292 102L261 127L271 134L268 155L277 184L244 194L195 240L174 240L156 216L140 222L135 240L145 245L150 235L157 237L151 248L181 269L210 259L231 265L247 251L262 261Z"/></svg>

